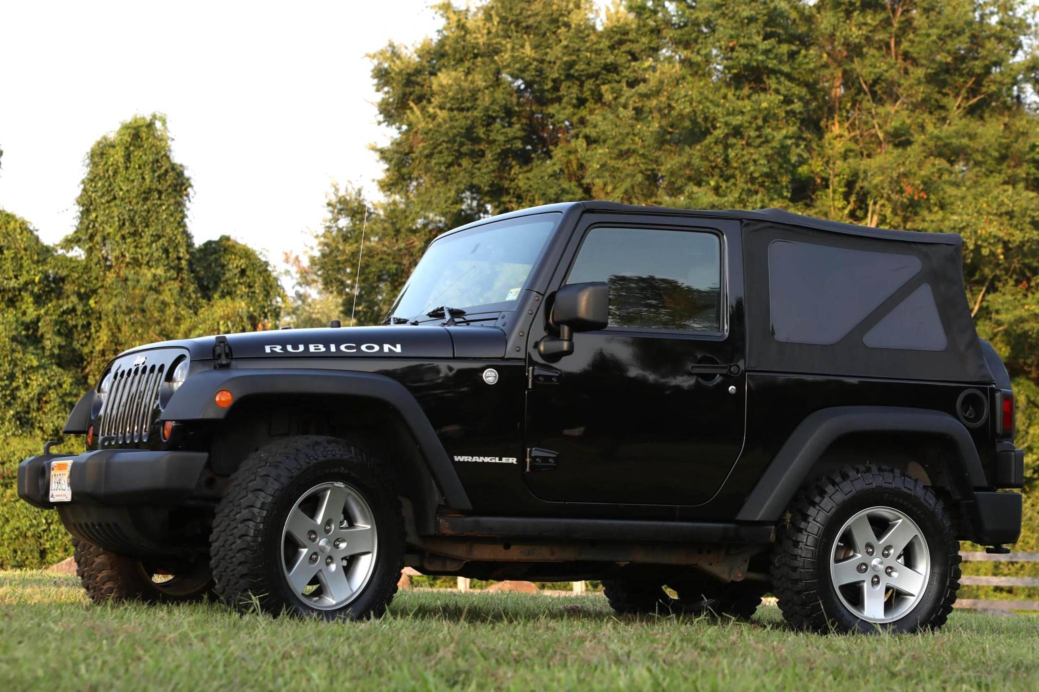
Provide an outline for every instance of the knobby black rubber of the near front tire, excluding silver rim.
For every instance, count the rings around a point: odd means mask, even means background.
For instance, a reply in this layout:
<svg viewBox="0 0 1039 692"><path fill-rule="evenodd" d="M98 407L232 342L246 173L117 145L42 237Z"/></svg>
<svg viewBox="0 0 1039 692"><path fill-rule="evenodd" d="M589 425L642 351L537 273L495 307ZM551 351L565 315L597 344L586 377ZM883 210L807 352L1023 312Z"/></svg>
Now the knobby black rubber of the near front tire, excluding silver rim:
<svg viewBox="0 0 1039 692"><path fill-rule="evenodd" d="M300 495L328 481L363 494L375 516L377 551L374 570L361 592L338 610L318 610L288 585L282 532ZM216 592L240 610L257 604L275 616L380 617L397 592L403 568L403 526L393 480L361 447L319 435L272 443L246 457L217 507L210 541Z"/></svg>

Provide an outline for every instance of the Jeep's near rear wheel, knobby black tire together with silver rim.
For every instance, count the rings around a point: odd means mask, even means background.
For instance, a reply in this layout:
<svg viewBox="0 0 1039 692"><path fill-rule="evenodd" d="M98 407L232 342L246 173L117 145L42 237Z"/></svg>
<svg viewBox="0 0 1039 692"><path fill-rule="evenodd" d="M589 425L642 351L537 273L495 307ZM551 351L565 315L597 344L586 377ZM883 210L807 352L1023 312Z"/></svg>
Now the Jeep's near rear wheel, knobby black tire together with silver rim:
<svg viewBox="0 0 1039 692"><path fill-rule="evenodd" d="M845 469L796 498L772 560L797 629L941 627L959 589L959 542L934 490L897 469Z"/></svg>

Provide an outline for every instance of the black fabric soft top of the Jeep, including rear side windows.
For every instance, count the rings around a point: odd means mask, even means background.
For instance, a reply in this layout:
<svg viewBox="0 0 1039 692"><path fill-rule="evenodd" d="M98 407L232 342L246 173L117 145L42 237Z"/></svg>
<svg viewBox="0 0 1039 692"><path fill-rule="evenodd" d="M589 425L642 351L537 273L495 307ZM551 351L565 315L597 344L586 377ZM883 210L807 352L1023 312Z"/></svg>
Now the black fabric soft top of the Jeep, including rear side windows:
<svg viewBox="0 0 1039 692"><path fill-rule="evenodd" d="M575 207L740 221L750 370L993 381L963 289L958 234L874 229L781 209L613 202L547 205L470 225Z"/></svg>

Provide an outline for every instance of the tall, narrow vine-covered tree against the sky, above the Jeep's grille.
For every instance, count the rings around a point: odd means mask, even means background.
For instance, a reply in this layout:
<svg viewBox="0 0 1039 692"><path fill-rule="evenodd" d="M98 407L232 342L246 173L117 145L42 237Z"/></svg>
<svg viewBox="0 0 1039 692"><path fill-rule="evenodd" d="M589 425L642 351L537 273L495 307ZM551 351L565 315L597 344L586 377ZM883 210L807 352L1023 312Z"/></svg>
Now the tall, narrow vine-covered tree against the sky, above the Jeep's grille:
<svg viewBox="0 0 1039 692"><path fill-rule="evenodd" d="M76 202L76 230L62 242L81 252L80 348L91 377L113 354L184 337L197 308L189 269L191 182L170 153L161 115L136 116L90 149Z"/></svg>

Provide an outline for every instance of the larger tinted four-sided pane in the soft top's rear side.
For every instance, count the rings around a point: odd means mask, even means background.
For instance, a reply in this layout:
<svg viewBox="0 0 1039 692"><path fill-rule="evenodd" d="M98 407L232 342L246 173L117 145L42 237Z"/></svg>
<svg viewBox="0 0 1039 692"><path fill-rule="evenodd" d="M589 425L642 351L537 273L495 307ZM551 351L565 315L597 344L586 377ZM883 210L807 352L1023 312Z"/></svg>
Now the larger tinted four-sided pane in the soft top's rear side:
<svg viewBox="0 0 1039 692"><path fill-rule="evenodd" d="M776 341L835 344L921 269L912 255L777 240L769 245Z"/></svg>

